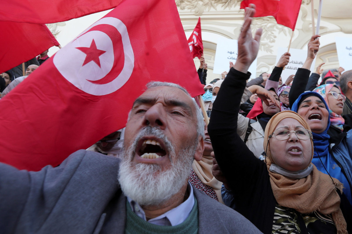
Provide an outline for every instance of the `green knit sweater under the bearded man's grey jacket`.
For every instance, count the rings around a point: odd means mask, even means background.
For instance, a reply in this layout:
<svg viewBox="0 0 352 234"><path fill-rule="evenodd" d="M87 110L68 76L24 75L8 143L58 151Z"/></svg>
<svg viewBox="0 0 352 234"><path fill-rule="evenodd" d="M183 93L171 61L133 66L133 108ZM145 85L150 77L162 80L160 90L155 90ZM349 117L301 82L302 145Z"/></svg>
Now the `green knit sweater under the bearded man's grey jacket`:
<svg viewBox="0 0 352 234"><path fill-rule="evenodd" d="M130 203L126 202L126 227L125 234L158 234L158 233L175 233L175 234L196 234L198 233L198 205L194 199L194 206L187 219L176 226L160 226L149 223L137 216L131 209Z"/></svg>

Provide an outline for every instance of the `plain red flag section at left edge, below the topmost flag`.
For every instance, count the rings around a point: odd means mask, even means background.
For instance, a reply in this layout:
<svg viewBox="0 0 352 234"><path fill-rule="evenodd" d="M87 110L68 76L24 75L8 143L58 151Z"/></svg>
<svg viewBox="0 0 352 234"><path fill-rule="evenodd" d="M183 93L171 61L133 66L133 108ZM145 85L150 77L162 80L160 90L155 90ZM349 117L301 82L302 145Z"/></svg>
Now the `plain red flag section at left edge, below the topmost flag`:
<svg viewBox="0 0 352 234"><path fill-rule="evenodd" d="M59 43L44 24L0 21L0 72L33 59Z"/></svg>

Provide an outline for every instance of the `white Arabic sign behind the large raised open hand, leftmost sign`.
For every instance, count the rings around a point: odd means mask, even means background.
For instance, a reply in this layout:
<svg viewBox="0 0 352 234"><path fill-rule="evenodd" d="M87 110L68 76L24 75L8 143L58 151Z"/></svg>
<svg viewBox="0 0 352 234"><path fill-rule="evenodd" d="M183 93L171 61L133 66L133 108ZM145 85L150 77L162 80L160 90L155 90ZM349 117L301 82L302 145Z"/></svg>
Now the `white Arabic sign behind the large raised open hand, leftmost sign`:
<svg viewBox="0 0 352 234"><path fill-rule="evenodd" d="M230 70L230 62L234 64L237 60L237 47L237 40L227 38L218 39L214 60L214 74L221 74ZM252 73L251 78L256 77L257 59L253 61L248 71Z"/></svg>

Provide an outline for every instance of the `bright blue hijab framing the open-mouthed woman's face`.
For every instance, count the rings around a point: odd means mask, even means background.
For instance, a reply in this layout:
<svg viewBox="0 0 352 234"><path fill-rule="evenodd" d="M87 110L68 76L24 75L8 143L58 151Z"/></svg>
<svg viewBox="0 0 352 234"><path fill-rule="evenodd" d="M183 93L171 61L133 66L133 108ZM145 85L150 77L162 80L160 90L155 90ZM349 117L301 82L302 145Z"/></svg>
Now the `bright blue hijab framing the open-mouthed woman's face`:
<svg viewBox="0 0 352 234"><path fill-rule="evenodd" d="M293 103L291 111L297 112L298 111L298 104L301 103L308 96L318 97L324 103L324 105L326 106L326 109L329 111L329 107L326 104L323 97L319 93L316 93L316 92L302 93L297 98L297 100ZM327 134L327 131L328 131L329 127L330 127L330 118L328 118L328 125L327 125L326 129L324 130L324 132L319 133L319 134L312 132L313 142L314 142L314 156L313 156L313 158L318 158L318 154L320 157L328 155L330 136Z"/></svg>

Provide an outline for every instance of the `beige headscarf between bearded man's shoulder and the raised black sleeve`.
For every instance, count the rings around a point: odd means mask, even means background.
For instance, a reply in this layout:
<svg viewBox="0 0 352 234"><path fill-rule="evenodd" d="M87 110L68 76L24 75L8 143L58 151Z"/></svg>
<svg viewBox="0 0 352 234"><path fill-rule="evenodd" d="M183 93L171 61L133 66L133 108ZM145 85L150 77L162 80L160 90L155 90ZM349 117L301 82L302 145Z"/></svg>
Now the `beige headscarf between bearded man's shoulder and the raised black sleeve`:
<svg viewBox="0 0 352 234"><path fill-rule="evenodd" d="M218 197L219 202L224 204L221 198L221 185L222 182L215 179L212 173L213 167L213 157L203 155L200 161L193 160L192 168L194 173L198 176L198 178L206 185L212 187Z"/></svg>

